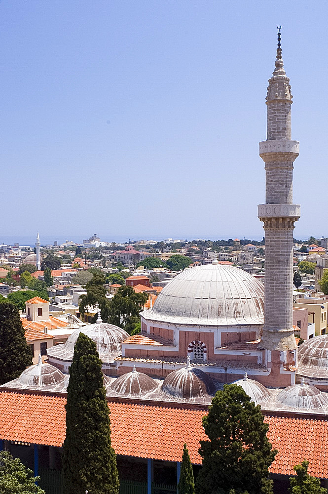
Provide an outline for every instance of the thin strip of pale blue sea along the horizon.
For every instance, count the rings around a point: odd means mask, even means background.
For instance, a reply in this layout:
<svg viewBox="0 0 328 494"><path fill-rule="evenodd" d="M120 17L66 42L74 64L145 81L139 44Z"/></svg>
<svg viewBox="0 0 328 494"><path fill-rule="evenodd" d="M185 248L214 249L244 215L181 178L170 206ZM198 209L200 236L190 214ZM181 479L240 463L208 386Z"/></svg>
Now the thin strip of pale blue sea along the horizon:
<svg viewBox="0 0 328 494"><path fill-rule="evenodd" d="M58 245L61 245L63 244L64 242L66 242L67 240L69 241L72 241L72 242L75 242L76 244L81 244L82 243L82 240L83 239L87 239L89 238L91 235L90 234L87 234L85 236L71 236L71 237L63 237L63 236L49 236L49 235L45 235L45 236L42 236L42 233L40 232L40 243L41 243L41 246L46 246L46 245L53 245L53 243L55 241L58 242ZM112 236L102 236L102 235L99 235L99 238L102 242L116 242L117 244L125 244L129 241L133 242L133 241L139 241L139 240L154 240L155 242L161 242L162 240L166 240L167 238L173 238L173 239L181 239L181 240L185 240L187 239L188 241L191 241L191 240L195 240L195 239L207 239L207 240L228 240L228 239L234 239L236 238L236 235L232 235L232 236L226 236L226 235L217 235L217 236L213 236L213 235L210 235L208 237L201 237L200 235L183 235L181 237L177 236L177 237L174 237L172 235L168 235L168 236L163 236L163 235L148 235L148 236L143 236L143 237L125 237L123 235L112 235ZM245 238L244 236L242 237L238 237L237 238L240 238L240 239L243 239ZM257 242L259 242L260 240L262 240L262 237L257 237L257 236L253 236L253 235L249 235L248 237L249 240L256 240ZM1 235L0 236L0 244L6 244L6 245L10 245L10 246L13 246L14 244L19 244L20 246L31 246L31 247L34 247L35 245L35 242L36 242L36 236L35 237L31 237L30 235L29 236L25 236L25 235L17 235L17 236L9 236L9 235Z"/></svg>

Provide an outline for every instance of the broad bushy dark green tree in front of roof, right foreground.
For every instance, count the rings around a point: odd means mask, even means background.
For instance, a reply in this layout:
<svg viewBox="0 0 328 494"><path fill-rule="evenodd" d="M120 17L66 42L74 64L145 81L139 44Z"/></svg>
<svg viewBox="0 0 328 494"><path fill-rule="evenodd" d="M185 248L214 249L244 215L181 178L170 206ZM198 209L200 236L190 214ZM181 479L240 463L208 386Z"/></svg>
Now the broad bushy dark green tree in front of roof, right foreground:
<svg viewBox="0 0 328 494"><path fill-rule="evenodd" d="M200 441L203 467L196 479L197 494L248 491L271 494L268 468L277 453L272 450L259 406L241 386L225 384L212 399L209 413L203 417L209 437Z"/></svg>

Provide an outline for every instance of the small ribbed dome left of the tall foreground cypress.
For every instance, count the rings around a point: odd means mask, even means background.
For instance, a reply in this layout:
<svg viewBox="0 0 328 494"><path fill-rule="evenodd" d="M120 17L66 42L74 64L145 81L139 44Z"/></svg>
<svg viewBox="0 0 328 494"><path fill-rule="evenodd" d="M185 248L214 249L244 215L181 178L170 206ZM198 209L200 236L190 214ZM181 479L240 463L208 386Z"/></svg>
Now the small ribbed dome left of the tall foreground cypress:
<svg viewBox="0 0 328 494"><path fill-rule="evenodd" d="M64 381L65 375L50 364L42 364L41 355L39 355L38 364L25 369L17 379L17 384L23 388L43 387Z"/></svg>

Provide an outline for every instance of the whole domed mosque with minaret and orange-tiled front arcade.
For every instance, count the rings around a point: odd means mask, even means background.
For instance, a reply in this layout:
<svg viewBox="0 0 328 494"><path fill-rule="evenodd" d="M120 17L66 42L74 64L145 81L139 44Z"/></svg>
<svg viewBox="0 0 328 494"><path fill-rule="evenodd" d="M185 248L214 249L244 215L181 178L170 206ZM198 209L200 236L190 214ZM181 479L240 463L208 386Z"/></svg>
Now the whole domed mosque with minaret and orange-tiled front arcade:
<svg viewBox="0 0 328 494"><path fill-rule="evenodd" d="M120 477L144 482L145 494L151 494L156 475L178 482L184 442L192 463L201 463L201 418L216 391L232 382L261 406L269 424L268 437L278 450L270 467L275 492L286 492L293 466L303 459L328 486L328 335L298 350L292 327L293 228L300 217L292 169L299 143L291 135L292 93L280 31L266 105L267 138L259 143L266 195L258 206L265 230L264 289L250 274L216 260L188 269L141 313L141 334L129 336L99 316L49 348L47 362L0 386L0 447L17 455L29 449L36 473L39 451L42 468L44 462L58 468L68 371L82 331L103 361Z"/></svg>

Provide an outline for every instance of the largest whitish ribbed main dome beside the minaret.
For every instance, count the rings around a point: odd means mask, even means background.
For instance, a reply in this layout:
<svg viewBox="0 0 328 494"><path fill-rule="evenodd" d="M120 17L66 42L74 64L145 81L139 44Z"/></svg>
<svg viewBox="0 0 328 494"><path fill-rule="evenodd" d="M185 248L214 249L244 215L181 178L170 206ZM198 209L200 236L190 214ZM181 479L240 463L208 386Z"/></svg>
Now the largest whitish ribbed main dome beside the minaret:
<svg viewBox="0 0 328 494"><path fill-rule="evenodd" d="M246 271L214 261L173 278L142 318L205 326L259 325L264 322L264 288Z"/></svg>

